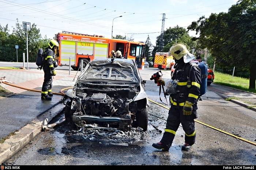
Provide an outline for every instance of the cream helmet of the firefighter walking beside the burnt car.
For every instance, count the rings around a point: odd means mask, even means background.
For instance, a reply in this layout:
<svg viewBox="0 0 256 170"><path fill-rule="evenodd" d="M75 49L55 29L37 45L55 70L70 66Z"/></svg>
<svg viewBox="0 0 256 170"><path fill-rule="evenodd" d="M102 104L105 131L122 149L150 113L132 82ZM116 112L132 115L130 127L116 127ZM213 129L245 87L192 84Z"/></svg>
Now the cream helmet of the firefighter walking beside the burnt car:
<svg viewBox="0 0 256 170"><path fill-rule="evenodd" d="M170 50L170 55L172 55L176 60L181 59L184 55L189 53L187 47L182 43L174 44Z"/></svg>

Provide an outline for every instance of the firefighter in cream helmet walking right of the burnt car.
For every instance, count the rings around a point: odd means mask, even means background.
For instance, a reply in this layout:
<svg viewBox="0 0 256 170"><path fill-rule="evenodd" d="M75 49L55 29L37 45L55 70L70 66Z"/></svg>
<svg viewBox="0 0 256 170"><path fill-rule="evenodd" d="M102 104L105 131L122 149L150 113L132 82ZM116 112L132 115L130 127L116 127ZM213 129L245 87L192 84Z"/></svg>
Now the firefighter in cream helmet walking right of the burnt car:
<svg viewBox="0 0 256 170"><path fill-rule="evenodd" d="M197 64L190 62L195 56L182 43L174 44L169 51L176 59L172 79L177 80L177 93L170 94L171 108L167 118L165 133L153 147L169 151L176 131L181 123L185 131L185 144L181 150L189 150L195 143L195 121L197 118L197 98L200 94L201 74Z"/></svg>

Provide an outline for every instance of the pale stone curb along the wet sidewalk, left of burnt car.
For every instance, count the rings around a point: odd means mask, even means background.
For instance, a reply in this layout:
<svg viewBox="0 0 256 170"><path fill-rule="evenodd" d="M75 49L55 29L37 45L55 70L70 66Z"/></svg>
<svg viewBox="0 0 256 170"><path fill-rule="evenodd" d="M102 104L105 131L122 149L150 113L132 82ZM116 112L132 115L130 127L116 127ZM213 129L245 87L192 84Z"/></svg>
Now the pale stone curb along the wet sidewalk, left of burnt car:
<svg viewBox="0 0 256 170"><path fill-rule="evenodd" d="M11 158L20 149L26 146L27 143L42 131L42 126L48 124L55 116L60 114L63 109L63 104L57 103L52 108L37 116L37 118L32 120L26 126L15 132L14 135L9 139L6 139L4 143L0 144L0 164Z"/></svg>

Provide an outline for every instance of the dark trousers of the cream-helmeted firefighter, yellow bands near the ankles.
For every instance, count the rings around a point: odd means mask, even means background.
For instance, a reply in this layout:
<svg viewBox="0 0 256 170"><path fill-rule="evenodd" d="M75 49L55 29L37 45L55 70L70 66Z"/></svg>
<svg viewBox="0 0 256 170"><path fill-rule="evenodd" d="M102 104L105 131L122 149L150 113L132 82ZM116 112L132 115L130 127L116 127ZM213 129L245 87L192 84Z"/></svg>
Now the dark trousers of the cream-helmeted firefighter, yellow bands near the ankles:
<svg viewBox="0 0 256 170"><path fill-rule="evenodd" d="M172 106L169 110L165 133L163 133L160 142L167 147L171 147L176 131L181 123L182 128L185 131L185 143L193 145L196 140L195 118L196 110L193 110L191 115L183 115L182 107Z"/></svg>

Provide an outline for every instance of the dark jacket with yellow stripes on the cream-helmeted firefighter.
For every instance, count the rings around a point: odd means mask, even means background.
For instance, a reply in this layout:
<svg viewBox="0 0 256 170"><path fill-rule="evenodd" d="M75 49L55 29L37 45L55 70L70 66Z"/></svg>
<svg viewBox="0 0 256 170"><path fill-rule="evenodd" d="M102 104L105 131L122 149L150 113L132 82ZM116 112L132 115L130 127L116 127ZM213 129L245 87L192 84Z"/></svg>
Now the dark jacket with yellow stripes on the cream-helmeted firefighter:
<svg viewBox="0 0 256 170"><path fill-rule="evenodd" d="M177 80L177 94L170 95L170 103L174 106L184 106L185 101L193 103L197 109L197 98L200 94L201 73L195 63L177 62L172 79Z"/></svg>

